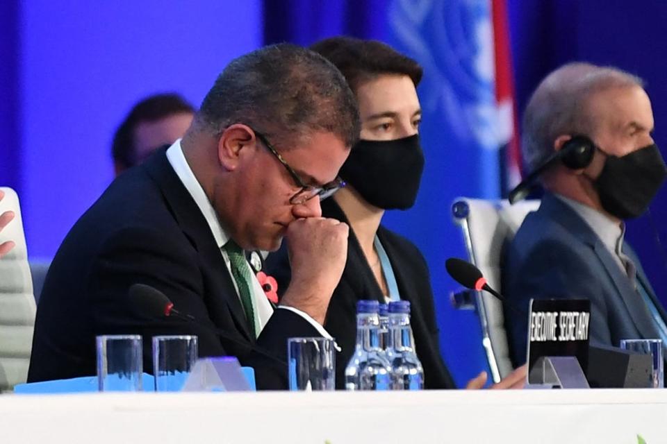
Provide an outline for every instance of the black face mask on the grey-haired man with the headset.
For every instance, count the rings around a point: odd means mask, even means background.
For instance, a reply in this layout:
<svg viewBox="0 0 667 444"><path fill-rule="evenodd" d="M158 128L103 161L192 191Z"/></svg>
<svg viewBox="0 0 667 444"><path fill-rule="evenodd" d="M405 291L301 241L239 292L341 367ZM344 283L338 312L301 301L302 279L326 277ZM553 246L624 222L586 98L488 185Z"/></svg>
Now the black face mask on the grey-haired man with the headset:
<svg viewBox="0 0 667 444"><path fill-rule="evenodd" d="M609 156L595 180L602 208L618 219L641 216L667 176L657 145L622 157Z"/></svg>

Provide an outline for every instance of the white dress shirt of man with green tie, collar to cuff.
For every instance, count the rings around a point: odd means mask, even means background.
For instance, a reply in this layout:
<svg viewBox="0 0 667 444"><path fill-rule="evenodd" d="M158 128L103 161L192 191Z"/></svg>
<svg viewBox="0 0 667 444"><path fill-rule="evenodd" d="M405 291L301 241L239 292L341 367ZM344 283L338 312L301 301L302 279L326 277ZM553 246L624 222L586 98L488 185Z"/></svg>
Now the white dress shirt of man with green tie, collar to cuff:
<svg viewBox="0 0 667 444"><path fill-rule="evenodd" d="M190 165L188 165L188 161L186 160L185 155L183 155L181 139L176 140L176 142L174 142L174 144L167 149L167 160L169 160L169 163L172 165L172 168L176 172L176 176L179 176L179 179L181 179L181 182L183 182L183 186L186 187L190 193L190 196L192 196L192 199L195 200L197 207L199 207L199 211L201 211L201 214L204 215L206 223L208 223L209 228L211 228L211 234L213 234L215 242L217 243L218 248L220 248L220 254L224 258L224 264L227 265L227 271L229 272L231 282L233 282L234 288L236 289L236 294L240 298L238 293L238 286L236 285L236 281L231 275L231 263L229 262L229 256L223 248L224 245L227 244L227 241L229 241L229 234L227 234L227 232L222 229L222 225L220 225L220 221L217 219L217 214L213 209L213 205L211 205L208 197L206 197L204 189L202 189L201 185L199 185L199 182L195 177L195 173L192 173L192 169L190 169ZM259 335L273 314L273 307L271 306L269 300L266 298L261 284L257 280L257 277L252 268L250 268L250 264L247 262L244 262L244 264L249 268L250 275L252 275L250 291L252 293L252 307L255 314L255 331L257 332L257 335ZM311 316L308 316L308 314L304 313L304 311L295 309L294 307L279 306L278 308L294 311L296 314L299 314L299 316L302 316L304 319L306 319L306 321L311 323L311 325L313 325L313 327L315 327L318 332L322 334L322 336L331 339L331 335L327 332L327 330L324 330L322 325L311 318Z"/></svg>

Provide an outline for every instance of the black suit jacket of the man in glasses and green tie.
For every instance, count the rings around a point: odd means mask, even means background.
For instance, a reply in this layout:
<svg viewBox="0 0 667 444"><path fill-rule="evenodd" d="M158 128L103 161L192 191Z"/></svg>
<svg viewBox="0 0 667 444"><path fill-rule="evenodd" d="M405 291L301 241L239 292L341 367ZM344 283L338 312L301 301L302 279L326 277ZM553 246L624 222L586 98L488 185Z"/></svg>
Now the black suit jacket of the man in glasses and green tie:
<svg viewBox="0 0 667 444"><path fill-rule="evenodd" d="M127 291L143 283L163 291L196 323L147 321ZM220 328L241 344L220 339ZM35 320L28 382L94 375L95 336L141 334L152 373L151 336L196 334L200 356L233 355L254 366L258 388L286 388L290 336L318 336L304 318L278 309L255 341L211 228L167 161L165 150L131 169L81 216L49 268Z"/></svg>

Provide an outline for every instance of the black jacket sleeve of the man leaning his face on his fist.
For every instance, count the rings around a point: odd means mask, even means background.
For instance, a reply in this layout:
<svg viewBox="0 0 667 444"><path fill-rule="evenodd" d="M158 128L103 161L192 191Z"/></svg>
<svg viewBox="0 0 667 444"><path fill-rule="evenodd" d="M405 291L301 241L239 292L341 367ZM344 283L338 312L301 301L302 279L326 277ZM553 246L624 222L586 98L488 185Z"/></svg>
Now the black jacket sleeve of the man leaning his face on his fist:
<svg viewBox="0 0 667 444"><path fill-rule="evenodd" d="M184 241L170 242L157 230L128 228L119 230L102 246L92 264L90 301L96 334L142 334L144 370L152 372L151 336L158 334L196 334L199 356L222 356L227 352L216 328L233 334L235 325L215 325L205 302L207 289L203 278L201 257ZM150 285L165 293L174 307L190 314L195 323L177 318L142 318L134 314L127 298L135 283ZM214 295L236 297L236 295ZM235 350L242 365L253 366L258 388L286 388L286 339L290 336L316 336L307 321L287 310L278 310L265 326L256 345ZM256 352L262 348L267 353ZM265 355L274 358L267 358Z"/></svg>

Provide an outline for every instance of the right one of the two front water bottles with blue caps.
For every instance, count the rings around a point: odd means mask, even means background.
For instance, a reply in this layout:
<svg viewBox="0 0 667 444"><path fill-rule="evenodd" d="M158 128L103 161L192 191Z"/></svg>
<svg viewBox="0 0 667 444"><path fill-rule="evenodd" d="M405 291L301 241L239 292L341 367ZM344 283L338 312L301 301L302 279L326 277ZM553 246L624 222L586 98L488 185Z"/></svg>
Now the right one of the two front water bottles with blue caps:
<svg viewBox="0 0 667 444"><path fill-rule="evenodd" d="M389 302L389 343L386 357L391 366L393 390L424 388L424 368L415 353L410 327L410 302Z"/></svg>

